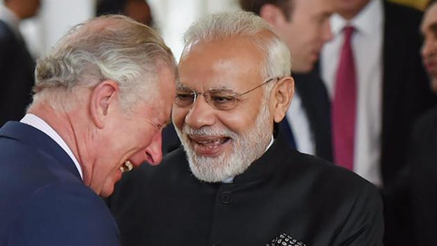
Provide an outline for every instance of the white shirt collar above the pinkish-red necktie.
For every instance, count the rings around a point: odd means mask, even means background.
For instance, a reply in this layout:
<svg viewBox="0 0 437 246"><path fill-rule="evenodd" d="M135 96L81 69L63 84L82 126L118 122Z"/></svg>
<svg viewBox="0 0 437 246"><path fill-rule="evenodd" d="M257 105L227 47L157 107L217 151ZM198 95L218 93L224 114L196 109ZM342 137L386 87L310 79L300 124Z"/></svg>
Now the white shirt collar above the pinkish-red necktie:
<svg viewBox="0 0 437 246"><path fill-rule="evenodd" d="M338 35L346 25L354 26L359 33L370 35L378 31L384 21L382 0L371 0L361 12L349 21L339 14L332 15L332 33Z"/></svg>

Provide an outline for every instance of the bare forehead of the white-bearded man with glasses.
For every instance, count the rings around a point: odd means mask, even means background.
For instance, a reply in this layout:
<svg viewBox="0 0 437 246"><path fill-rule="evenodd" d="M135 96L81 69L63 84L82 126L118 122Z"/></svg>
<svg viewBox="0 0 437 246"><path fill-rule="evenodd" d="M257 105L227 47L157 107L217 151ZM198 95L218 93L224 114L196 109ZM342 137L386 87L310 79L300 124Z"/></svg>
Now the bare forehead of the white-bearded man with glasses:
<svg viewBox="0 0 437 246"><path fill-rule="evenodd" d="M180 59L180 82L194 90L259 83L264 52L248 38L195 43Z"/></svg>

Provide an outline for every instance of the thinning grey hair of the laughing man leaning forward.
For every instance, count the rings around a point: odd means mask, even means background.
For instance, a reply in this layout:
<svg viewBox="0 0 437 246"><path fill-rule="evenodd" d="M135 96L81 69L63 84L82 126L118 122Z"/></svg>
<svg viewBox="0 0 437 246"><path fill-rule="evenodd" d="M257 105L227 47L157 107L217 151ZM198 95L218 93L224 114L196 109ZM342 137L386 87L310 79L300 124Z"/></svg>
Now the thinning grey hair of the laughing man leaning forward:
<svg viewBox="0 0 437 246"><path fill-rule="evenodd" d="M50 54L37 60L33 104L46 101L69 110L80 100L76 88L112 80L128 110L146 98L162 65L176 76L171 50L151 28L121 15L96 17L71 28Z"/></svg>

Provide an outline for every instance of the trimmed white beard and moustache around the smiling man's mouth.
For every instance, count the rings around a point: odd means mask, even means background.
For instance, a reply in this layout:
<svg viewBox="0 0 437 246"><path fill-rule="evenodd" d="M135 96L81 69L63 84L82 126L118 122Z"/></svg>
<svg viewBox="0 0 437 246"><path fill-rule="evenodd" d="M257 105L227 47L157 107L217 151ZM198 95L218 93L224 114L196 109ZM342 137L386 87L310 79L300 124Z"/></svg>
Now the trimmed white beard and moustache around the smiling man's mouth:
<svg viewBox="0 0 437 246"><path fill-rule="evenodd" d="M254 126L241 134L210 126L192 129L185 124L182 133L175 128L187 153L191 172L201 181L219 182L246 171L253 161L264 154L271 141L273 122L270 116L270 110L263 100ZM230 153L225 152L219 156L198 156L187 135L226 136L232 140L232 149L228 151Z"/></svg>

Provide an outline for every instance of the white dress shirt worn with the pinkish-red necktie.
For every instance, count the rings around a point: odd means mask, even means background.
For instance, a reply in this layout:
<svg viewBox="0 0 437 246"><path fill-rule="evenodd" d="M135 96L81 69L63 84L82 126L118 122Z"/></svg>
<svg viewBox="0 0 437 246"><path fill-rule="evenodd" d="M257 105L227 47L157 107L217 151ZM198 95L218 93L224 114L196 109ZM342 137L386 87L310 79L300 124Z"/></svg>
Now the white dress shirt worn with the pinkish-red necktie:
<svg viewBox="0 0 437 246"><path fill-rule="evenodd" d="M382 0L371 0L350 19L331 17L334 39L325 44L320 58L322 78L329 97L334 97L336 71L344 42L343 28L354 26L352 50L357 71L357 125L355 126L354 172L382 186L379 161L382 129L382 44L384 11Z"/></svg>

